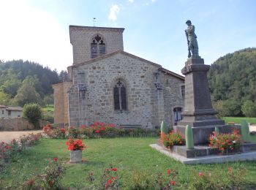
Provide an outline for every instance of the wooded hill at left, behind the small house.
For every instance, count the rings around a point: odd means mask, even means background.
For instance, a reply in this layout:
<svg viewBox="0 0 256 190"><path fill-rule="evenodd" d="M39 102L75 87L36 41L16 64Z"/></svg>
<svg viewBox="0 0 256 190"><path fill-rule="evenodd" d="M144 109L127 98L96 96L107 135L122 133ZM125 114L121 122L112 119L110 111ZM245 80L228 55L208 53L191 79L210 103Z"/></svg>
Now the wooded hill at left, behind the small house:
<svg viewBox="0 0 256 190"><path fill-rule="evenodd" d="M30 102L26 96L33 102L42 103L45 96L53 94L51 85L60 82L56 70L40 64L23 60L0 61L0 104L23 106ZM20 99L23 101L20 102Z"/></svg>

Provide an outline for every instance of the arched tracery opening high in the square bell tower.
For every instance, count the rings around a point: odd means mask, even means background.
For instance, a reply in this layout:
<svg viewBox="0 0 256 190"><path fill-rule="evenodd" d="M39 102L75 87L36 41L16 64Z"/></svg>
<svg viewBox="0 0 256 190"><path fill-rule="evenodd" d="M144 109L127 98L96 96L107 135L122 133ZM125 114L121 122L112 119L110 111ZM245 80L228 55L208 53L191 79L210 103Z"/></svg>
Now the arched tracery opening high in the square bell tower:
<svg viewBox="0 0 256 190"><path fill-rule="evenodd" d="M104 39L99 34L91 40L91 58L106 54L106 45Z"/></svg>

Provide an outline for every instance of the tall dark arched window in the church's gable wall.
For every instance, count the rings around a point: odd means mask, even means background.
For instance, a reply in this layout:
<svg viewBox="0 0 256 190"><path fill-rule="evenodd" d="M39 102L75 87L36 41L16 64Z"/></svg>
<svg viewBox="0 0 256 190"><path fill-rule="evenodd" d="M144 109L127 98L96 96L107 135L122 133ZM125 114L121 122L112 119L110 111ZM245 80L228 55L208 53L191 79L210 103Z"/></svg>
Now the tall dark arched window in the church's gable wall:
<svg viewBox="0 0 256 190"><path fill-rule="evenodd" d="M123 81L118 80L113 93L115 110L127 110L127 89Z"/></svg>

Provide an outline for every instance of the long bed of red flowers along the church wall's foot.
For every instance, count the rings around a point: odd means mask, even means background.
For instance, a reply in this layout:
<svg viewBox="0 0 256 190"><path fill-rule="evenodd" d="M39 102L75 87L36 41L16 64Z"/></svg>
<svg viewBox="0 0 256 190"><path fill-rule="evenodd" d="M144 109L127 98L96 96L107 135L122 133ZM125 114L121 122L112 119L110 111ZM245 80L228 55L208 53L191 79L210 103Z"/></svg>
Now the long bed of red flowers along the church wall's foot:
<svg viewBox="0 0 256 190"><path fill-rule="evenodd" d="M45 137L49 138L109 138L109 137L157 137L159 131L147 129L124 129L113 123L95 122L90 126L54 128L50 124L43 127Z"/></svg>

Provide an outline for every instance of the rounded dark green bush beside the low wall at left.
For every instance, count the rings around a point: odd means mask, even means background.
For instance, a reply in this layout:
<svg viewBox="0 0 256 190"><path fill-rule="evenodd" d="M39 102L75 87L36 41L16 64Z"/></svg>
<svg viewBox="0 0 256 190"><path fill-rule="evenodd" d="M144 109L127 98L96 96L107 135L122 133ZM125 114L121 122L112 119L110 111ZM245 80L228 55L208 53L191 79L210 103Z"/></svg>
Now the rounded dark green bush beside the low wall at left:
<svg viewBox="0 0 256 190"><path fill-rule="evenodd" d="M23 117L28 118L31 123L37 126L40 118L42 118L42 110L38 104L25 104L23 107ZM38 126L37 126L38 127Z"/></svg>

